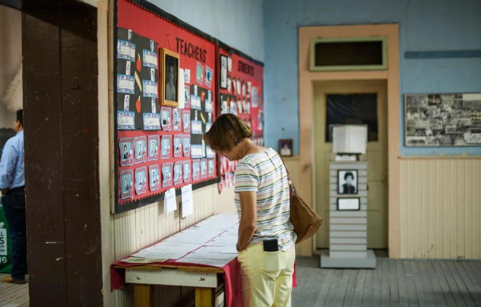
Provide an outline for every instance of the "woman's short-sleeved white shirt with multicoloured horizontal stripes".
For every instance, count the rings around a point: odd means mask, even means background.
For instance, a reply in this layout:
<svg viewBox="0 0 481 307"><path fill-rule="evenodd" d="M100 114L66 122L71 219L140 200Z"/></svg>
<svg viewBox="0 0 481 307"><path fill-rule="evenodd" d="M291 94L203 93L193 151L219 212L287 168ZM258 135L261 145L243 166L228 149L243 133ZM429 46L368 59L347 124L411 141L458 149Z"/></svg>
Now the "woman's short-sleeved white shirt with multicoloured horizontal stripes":
<svg viewBox="0 0 481 307"><path fill-rule="evenodd" d="M251 244L278 239L279 249L287 251L296 242L291 224L287 172L277 152L246 155L235 170L235 206L240 219L239 192L257 193L257 226Z"/></svg>

